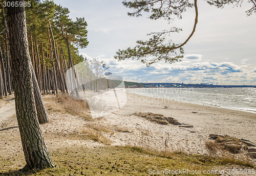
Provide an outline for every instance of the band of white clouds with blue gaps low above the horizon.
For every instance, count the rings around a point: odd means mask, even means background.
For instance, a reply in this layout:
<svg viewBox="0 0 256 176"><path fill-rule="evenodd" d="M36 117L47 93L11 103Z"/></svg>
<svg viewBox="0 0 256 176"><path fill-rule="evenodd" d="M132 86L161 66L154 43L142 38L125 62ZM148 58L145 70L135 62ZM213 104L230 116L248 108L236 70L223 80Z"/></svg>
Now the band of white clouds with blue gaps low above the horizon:
<svg viewBox="0 0 256 176"><path fill-rule="evenodd" d="M113 75L125 81L172 82L172 83L216 83L223 85L255 85L256 67L245 67L232 62L194 62L188 60L174 64L158 62L146 67L138 60L118 62L115 59L100 57L109 66ZM246 67L247 69L249 67Z"/></svg>

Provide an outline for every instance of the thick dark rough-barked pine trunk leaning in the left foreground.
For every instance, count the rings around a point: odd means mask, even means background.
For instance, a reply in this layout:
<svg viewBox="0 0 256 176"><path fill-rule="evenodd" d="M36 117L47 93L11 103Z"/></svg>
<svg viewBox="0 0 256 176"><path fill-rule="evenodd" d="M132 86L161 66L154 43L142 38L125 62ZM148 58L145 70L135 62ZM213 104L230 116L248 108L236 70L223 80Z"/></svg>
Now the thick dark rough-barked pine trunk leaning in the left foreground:
<svg viewBox="0 0 256 176"><path fill-rule="evenodd" d="M10 2L24 3L24 0ZM54 167L36 114L25 7L7 7L7 10L16 116L25 159L30 168Z"/></svg>

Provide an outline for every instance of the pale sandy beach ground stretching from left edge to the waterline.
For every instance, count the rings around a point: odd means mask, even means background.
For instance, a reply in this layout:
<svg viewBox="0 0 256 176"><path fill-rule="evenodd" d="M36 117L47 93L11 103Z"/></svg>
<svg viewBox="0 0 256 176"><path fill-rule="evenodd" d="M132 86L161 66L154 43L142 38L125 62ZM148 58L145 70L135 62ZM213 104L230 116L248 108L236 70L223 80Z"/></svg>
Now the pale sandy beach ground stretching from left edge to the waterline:
<svg viewBox="0 0 256 176"><path fill-rule="evenodd" d="M229 135L256 142L256 115L253 113L171 102L167 99L127 93L127 103L124 107L104 117L88 121L82 116L71 115L60 109L54 110L53 106L57 104L50 103L51 98L54 97L44 96L50 123L40 125L51 153L58 153L63 148L86 147L90 149L108 145L129 145L159 151L176 150L189 154L209 155L205 147L209 134ZM8 112L15 112L12 98L6 99L9 104L6 105L6 102L2 104L0 112L6 112L7 109ZM178 122L193 125L193 128L152 122L135 115L139 112L173 117ZM15 114L5 115L0 120L0 127L1 157L2 160L8 161L3 169L8 170L10 166L22 168L26 163ZM104 137L106 143L93 140L90 137L92 133L94 133L94 138L97 136L102 140ZM15 162L9 161L15 156ZM256 159L252 162L255 165ZM235 166L235 168L240 167Z"/></svg>

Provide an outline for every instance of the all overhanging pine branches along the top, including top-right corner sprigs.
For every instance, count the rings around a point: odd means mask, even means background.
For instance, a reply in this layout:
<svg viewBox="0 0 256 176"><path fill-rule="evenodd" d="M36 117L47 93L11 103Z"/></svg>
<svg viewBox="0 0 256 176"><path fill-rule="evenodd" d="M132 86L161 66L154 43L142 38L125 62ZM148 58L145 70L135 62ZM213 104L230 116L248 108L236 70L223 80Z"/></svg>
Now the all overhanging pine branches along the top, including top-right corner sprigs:
<svg viewBox="0 0 256 176"><path fill-rule="evenodd" d="M249 0L252 3L252 8L246 11L247 15L251 15L256 12L256 1ZM214 5L219 8L224 7L226 4L235 4L239 6L243 3L242 0L208 0L209 5ZM147 34L151 36L150 39L143 41L138 40L137 45L133 48L119 49L116 53L115 59L121 61L125 59L140 60L146 66L158 61L165 61L166 63L174 63L180 61L183 58L184 49L183 46L194 35L198 23L198 5L197 0L190 3L188 0L134 0L123 1L123 5L127 8L133 9L133 12L129 12L129 16L142 16L143 12L149 13L148 18L152 20L165 19L169 23L175 19L175 17L181 19L182 13L188 8L195 9L195 22L193 30L190 35L182 43L176 43L169 38L171 33L178 33L182 29L172 27L170 30L162 30L161 32L153 32Z"/></svg>

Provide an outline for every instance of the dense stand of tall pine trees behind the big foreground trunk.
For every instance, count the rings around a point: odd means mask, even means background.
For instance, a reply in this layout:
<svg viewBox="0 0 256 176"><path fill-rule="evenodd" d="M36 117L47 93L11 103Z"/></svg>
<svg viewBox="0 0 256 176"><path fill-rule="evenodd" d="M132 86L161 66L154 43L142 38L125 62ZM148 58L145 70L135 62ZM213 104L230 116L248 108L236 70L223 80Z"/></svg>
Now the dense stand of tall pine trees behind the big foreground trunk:
<svg viewBox="0 0 256 176"><path fill-rule="evenodd" d="M3 98L14 91L8 14L3 2L0 21L0 98ZM29 53L40 92L67 92L66 71L85 60L78 54L78 48L89 43L87 22L84 18L73 21L67 8L48 0L40 4L31 1L31 6L26 7L26 21Z"/></svg>

